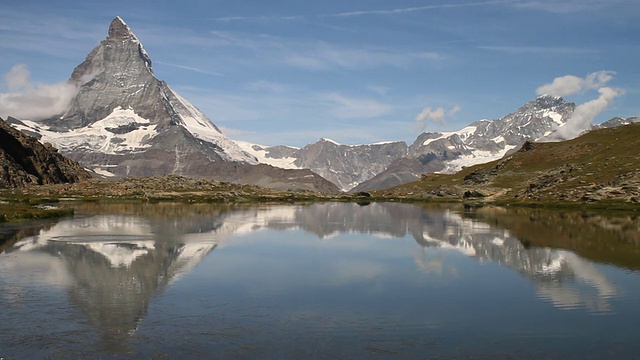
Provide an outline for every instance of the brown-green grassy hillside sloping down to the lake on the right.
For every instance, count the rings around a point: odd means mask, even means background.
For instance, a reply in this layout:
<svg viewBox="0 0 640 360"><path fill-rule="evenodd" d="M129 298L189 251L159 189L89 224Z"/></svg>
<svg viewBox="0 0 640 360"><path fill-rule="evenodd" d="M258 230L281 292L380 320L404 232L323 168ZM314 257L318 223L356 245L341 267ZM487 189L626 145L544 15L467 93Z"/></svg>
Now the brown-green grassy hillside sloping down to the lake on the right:
<svg viewBox="0 0 640 360"><path fill-rule="evenodd" d="M499 160L455 174L428 174L376 195L474 198L517 203L577 202L636 209L640 203L640 123L592 130L561 142L526 142Z"/></svg>

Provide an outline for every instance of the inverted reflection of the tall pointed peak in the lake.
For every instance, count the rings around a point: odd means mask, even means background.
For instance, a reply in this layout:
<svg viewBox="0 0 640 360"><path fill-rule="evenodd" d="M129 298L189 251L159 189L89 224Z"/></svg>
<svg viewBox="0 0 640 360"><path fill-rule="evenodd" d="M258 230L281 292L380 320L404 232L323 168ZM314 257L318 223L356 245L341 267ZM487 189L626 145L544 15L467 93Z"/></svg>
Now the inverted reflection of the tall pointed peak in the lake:
<svg viewBox="0 0 640 360"><path fill-rule="evenodd" d="M51 285L67 289L102 331L106 350L121 351L153 294L215 248L215 239L192 232L197 228L210 234L212 224L207 217L185 223L121 215L62 220L18 242L3 261L31 263L37 258L64 264L68 274L61 276L66 280L51 279Z"/></svg>

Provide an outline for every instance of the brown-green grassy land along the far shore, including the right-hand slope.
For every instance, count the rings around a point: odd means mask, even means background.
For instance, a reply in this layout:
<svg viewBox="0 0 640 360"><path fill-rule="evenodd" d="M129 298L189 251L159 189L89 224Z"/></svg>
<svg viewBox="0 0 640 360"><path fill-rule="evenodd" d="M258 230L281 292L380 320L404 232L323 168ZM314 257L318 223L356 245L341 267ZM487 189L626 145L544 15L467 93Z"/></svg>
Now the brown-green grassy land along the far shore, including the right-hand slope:
<svg viewBox="0 0 640 360"><path fill-rule="evenodd" d="M426 174L387 190L324 194L274 190L211 179L153 176L90 179L0 191L0 221L62 216L67 201L300 203L314 201L463 202L527 207L640 208L640 124L592 131L574 140L527 143L506 158L457 174Z"/></svg>

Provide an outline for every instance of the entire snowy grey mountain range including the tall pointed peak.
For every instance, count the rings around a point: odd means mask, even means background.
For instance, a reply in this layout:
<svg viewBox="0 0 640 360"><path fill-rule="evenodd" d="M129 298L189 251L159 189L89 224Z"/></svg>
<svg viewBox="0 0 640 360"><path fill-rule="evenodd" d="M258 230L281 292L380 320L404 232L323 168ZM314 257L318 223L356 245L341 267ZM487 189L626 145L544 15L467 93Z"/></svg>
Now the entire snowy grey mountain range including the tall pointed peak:
<svg viewBox="0 0 640 360"><path fill-rule="evenodd" d="M502 158L565 126L576 107L541 96L497 120L422 133L410 146L320 139L294 148L233 141L156 78L142 43L119 17L69 81L78 93L64 114L10 122L98 175L176 174L327 193L385 189L425 173L453 173ZM602 126L629 121L616 118Z"/></svg>

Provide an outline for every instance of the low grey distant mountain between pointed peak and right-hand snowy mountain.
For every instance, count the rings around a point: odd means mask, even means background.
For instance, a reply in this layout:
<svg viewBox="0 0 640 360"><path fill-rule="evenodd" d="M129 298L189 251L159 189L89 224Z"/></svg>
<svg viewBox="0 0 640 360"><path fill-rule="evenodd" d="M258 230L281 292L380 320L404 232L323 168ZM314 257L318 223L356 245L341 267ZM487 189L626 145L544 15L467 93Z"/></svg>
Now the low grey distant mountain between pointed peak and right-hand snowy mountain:
<svg viewBox="0 0 640 360"><path fill-rule="evenodd" d="M261 163L291 169L310 169L343 191L351 190L384 171L394 160L405 156L408 149L403 141L343 145L325 138L301 149L239 144Z"/></svg>

